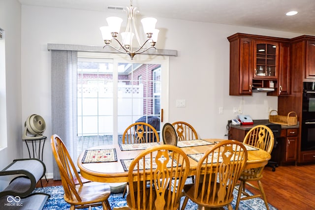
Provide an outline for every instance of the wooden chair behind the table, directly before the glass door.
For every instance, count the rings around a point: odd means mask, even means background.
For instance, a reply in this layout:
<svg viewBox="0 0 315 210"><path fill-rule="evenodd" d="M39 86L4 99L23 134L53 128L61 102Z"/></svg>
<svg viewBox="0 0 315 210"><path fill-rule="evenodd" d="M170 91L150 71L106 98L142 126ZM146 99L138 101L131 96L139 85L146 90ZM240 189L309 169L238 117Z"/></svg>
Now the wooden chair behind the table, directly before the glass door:
<svg viewBox="0 0 315 210"><path fill-rule="evenodd" d="M159 142L157 130L149 123L135 122L123 134L123 144Z"/></svg>

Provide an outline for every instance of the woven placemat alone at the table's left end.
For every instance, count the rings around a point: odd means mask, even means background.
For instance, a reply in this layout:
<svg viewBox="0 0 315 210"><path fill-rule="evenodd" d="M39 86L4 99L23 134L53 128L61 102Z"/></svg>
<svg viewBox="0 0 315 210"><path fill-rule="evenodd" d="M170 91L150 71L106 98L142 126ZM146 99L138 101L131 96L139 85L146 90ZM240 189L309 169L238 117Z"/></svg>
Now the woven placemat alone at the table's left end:
<svg viewBox="0 0 315 210"><path fill-rule="evenodd" d="M82 163L104 163L117 161L116 149L85 150Z"/></svg>

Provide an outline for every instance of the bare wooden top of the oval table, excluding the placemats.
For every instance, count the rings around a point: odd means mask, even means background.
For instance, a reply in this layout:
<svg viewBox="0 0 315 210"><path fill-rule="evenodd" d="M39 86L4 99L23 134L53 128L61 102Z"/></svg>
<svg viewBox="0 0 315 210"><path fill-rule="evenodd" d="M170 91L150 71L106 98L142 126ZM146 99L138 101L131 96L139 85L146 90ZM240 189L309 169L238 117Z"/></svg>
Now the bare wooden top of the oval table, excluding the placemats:
<svg viewBox="0 0 315 210"><path fill-rule="evenodd" d="M203 139L210 143L216 143L224 141L224 139ZM163 144L160 142L159 144ZM209 150L212 145L203 145L203 146L189 146L182 147L181 149L185 151L186 154L195 154L203 153L206 150ZM121 163L121 159L133 159L143 150L121 150L119 145L102 145L89 150L101 150L101 149L114 149L117 154L117 161L114 162L97 162L97 163L82 163L85 151L83 151L78 157L78 167L80 168L80 174L92 181L98 182L108 182L108 183L118 183L118 182L127 182L128 181L128 171L124 170L124 167ZM255 149L248 150L248 160L246 168L258 168L265 166L268 163L268 160L271 158L271 155L265 150ZM198 162L189 157L190 170L189 176L196 175L196 167Z"/></svg>

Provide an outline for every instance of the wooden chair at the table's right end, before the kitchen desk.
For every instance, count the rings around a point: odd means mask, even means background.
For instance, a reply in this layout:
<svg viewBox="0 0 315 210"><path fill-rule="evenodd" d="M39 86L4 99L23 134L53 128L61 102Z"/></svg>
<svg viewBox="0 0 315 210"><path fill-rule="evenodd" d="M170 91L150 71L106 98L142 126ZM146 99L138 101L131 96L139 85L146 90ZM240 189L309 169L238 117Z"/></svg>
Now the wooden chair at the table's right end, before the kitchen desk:
<svg viewBox="0 0 315 210"><path fill-rule="evenodd" d="M246 134L243 143L271 153L274 147L274 134L269 127L265 125L256 125L252 127L252 129ZM240 184L238 185L238 195L237 195L235 210L238 209L240 201L257 198L257 197L263 198L266 208L267 210L269 210L266 195L260 181L262 178L262 172L263 172L264 167L265 166L259 167L259 168L253 168L253 169L246 169L242 172L239 179ZM258 187L253 185L251 183L252 181L257 181ZM258 190L259 194L254 194L254 195L248 194L245 191L247 185ZM244 197L241 198L242 194L244 195Z"/></svg>

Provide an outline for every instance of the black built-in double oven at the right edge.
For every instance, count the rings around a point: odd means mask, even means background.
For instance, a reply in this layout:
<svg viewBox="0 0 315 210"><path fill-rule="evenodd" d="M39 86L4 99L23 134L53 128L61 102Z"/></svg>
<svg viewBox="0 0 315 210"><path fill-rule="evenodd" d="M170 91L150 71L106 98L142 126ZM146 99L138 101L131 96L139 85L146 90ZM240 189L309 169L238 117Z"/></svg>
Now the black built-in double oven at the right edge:
<svg viewBox="0 0 315 210"><path fill-rule="evenodd" d="M315 150L315 82L303 83L301 150Z"/></svg>

